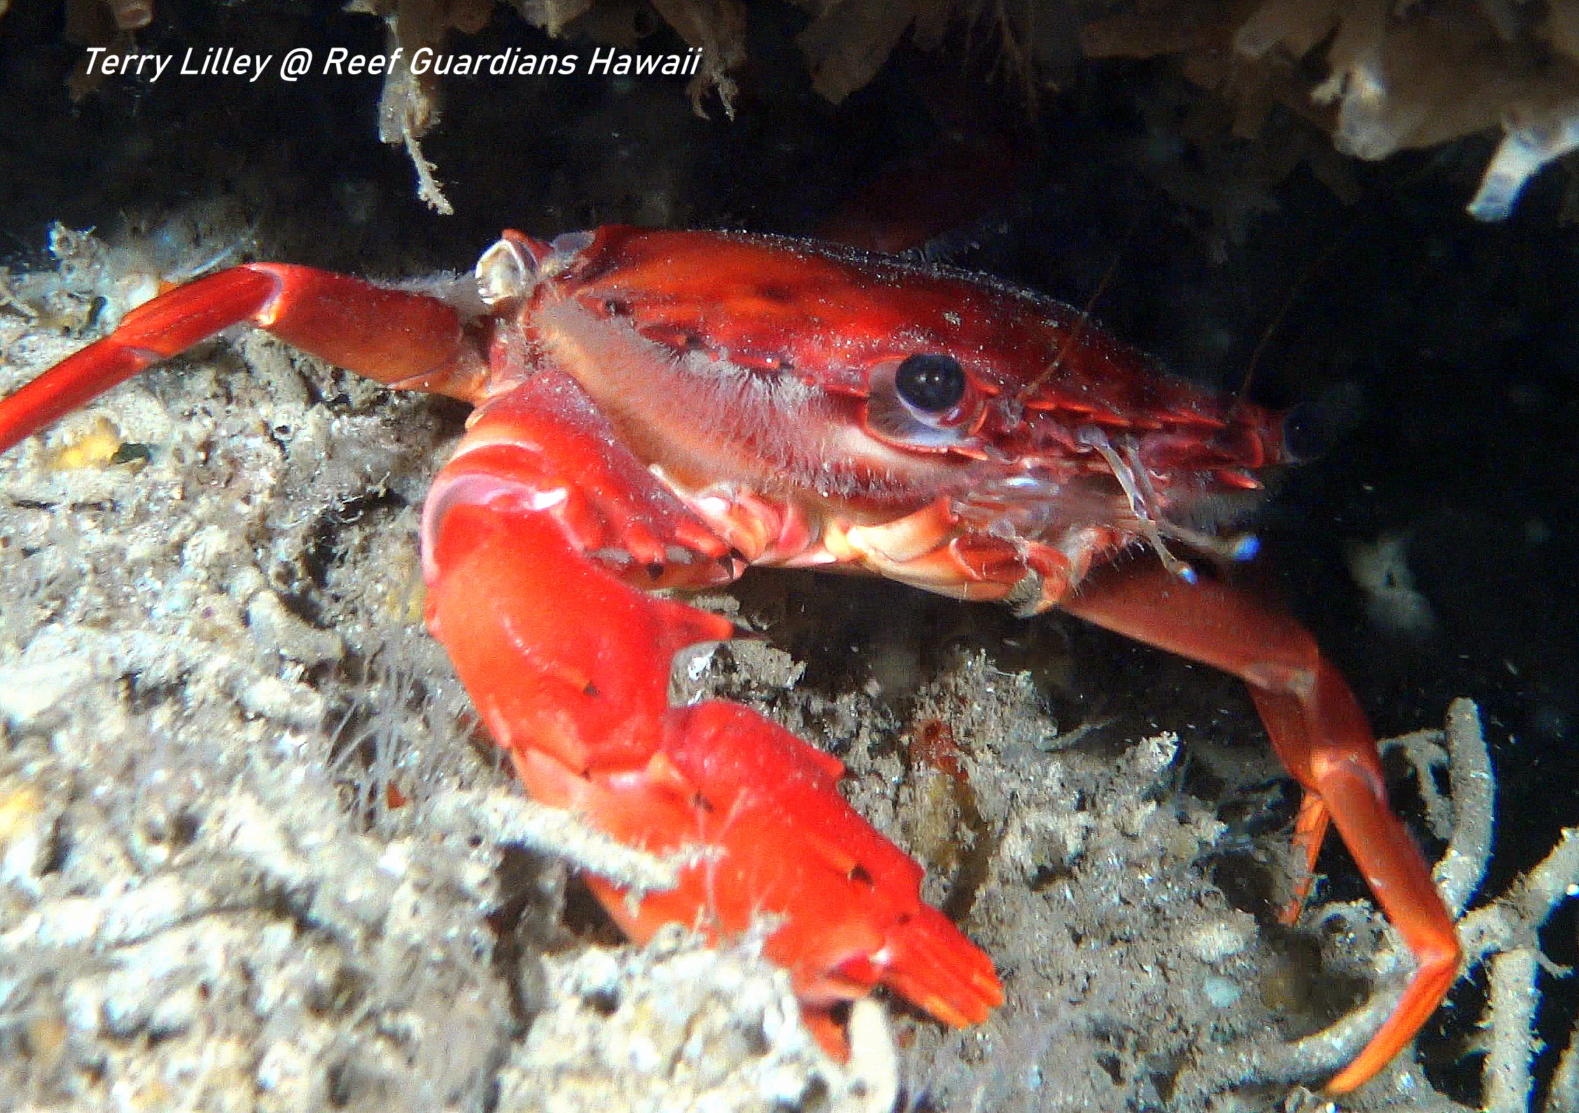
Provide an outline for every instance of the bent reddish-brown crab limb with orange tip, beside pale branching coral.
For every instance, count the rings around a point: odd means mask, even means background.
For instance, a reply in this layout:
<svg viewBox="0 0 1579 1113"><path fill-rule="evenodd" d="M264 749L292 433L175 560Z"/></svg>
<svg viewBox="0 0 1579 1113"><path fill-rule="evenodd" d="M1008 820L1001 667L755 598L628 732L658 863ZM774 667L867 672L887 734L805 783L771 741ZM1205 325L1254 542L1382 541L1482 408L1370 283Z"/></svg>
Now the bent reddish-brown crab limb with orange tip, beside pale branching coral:
<svg viewBox="0 0 1579 1113"><path fill-rule="evenodd" d="M1348 685L1292 616L1225 584L1183 583L1157 565L1101 568L1060 606L1249 685L1273 748L1306 793L1296 838L1307 862L1331 819L1415 955L1415 974L1393 1014L1326 1089L1363 1085L1437 1009L1462 952L1420 848L1388 805L1375 739Z"/></svg>

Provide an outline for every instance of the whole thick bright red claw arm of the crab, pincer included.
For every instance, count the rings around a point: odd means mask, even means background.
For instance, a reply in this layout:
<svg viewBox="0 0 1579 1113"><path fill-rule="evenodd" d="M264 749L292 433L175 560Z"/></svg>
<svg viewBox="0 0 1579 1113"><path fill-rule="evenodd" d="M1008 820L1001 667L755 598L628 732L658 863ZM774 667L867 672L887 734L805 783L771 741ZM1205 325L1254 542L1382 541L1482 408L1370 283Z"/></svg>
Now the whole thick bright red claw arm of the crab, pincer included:
<svg viewBox="0 0 1579 1113"><path fill-rule="evenodd" d="M783 965L831 1050L840 1001L889 985L951 1025L1003 1001L992 963L921 901L921 867L838 794L842 764L756 712L668 704L669 660L729 638L632 583L720 583L733 556L611 439L568 376L486 404L423 519L428 625L527 791L655 853L696 848L676 889L592 879L635 939L778 920Z"/></svg>

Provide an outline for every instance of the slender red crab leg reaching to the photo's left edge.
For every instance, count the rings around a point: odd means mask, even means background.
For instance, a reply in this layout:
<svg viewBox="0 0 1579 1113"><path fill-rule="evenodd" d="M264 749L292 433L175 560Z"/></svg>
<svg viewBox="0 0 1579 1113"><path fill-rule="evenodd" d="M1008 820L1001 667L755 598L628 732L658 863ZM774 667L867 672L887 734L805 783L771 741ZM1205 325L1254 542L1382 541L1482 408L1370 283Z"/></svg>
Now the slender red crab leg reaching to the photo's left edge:
<svg viewBox="0 0 1579 1113"><path fill-rule="evenodd" d="M287 264L246 264L137 306L109 336L0 399L0 452L147 366L231 325L253 324L305 352L390 385L448 368L464 350L459 314L426 294ZM447 380L456 377L450 369ZM447 390L466 396L459 390Z"/></svg>

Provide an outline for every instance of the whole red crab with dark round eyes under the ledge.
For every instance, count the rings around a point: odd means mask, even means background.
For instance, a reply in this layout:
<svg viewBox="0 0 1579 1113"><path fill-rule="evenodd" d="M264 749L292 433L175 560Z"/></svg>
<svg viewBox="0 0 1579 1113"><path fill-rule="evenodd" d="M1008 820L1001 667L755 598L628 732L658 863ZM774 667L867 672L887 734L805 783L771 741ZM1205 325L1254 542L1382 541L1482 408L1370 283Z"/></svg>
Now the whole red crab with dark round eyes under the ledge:
<svg viewBox="0 0 1579 1113"><path fill-rule="evenodd" d="M1336 823L1418 961L1330 1089L1374 1075L1442 1001L1453 922L1347 684L1290 617L1168 548L1233 548L1198 523L1287 456L1281 417L1161 374L1056 302L827 245L505 232L472 290L283 264L201 278L0 401L0 450L238 322L471 401L423 512L428 627L534 797L652 851L707 848L643 900L592 878L609 914L636 939L780 916L767 952L832 1045L832 1006L878 984L960 1026L1003 990L840 797L838 761L731 703L669 706L673 654L736 631L649 589L748 564L872 571L1058 606L1238 674L1306 789L1307 860ZM1154 559L1116 565L1129 548ZM586 617L565 622L565 600Z"/></svg>

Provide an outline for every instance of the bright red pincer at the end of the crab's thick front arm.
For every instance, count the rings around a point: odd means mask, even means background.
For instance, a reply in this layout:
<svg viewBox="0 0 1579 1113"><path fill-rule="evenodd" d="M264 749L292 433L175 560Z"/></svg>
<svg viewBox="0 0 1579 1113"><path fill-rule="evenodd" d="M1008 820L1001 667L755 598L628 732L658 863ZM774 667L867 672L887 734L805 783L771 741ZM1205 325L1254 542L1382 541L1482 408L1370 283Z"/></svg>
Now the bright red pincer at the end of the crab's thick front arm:
<svg viewBox="0 0 1579 1113"><path fill-rule="evenodd" d="M635 939L681 920L712 939L777 920L764 954L790 971L813 1032L842 1055L831 1010L886 985L966 1026L1003 1002L992 961L922 903L922 870L838 794L842 766L737 704L671 709L669 740L639 775L578 777L542 750L515 753L529 791L622 841L701 860L665 892L587 878Z"/></svg>

